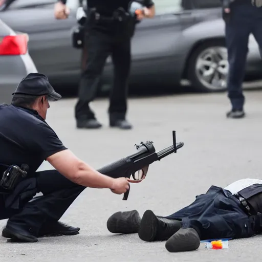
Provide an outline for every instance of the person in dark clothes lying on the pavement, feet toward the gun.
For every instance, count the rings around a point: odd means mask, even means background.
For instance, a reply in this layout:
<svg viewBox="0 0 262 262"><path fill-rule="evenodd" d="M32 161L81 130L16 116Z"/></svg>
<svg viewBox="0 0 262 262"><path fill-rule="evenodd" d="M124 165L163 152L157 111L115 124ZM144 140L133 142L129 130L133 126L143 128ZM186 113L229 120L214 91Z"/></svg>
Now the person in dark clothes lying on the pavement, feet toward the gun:
<svg viewBox="0 0 262 262"><path fill-rule="evenodd" d="M238 180L226 188L211 186L194 202L169 216L137 210L116 212L107 221L112 233L138 233L146 242L166 241L169 252L196 250L200 241L244 238L261 233L262 180Z"/></svg>

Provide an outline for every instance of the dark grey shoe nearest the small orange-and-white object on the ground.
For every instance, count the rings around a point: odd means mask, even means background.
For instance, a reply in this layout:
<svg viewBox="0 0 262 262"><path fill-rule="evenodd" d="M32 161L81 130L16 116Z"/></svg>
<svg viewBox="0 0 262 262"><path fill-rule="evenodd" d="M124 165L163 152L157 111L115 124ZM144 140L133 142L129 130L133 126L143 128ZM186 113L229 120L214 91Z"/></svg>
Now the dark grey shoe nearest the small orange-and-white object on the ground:
<svg viewBox="0 0 262 262"><path fill-rule="evenodd" d="M166 242L165 247L169 252L184 252L197 250L200 246L200 237L193 228L181 228Z"/></svg>

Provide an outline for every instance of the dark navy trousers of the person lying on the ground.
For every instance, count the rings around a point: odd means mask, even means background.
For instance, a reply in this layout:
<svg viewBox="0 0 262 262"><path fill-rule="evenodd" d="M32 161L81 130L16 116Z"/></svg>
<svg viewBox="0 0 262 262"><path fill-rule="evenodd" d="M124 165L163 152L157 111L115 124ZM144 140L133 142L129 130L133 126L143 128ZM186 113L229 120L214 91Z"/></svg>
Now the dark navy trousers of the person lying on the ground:
<svg viewBox="0 0 262 262"><path fill-rule="evenodd" d="M229 191L216 186L167 218L181 220L184 228L195 228L201 240L244 238L260 231L260 216L248 215Z"/></svg>

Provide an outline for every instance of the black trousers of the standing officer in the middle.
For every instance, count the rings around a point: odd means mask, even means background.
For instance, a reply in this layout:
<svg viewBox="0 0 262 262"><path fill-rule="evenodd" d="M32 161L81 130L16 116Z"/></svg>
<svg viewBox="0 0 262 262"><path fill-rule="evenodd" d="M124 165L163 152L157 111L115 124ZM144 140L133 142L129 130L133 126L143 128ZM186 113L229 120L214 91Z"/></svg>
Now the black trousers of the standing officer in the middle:
<svg viewBox="0 0 262 262"><path fill-rule="evenodd" d="M130 37L122 34L116 24L86 25L85 49L87 58L81 73L78 102L75 107L77 120L95 119L90 108L99 91L101 75L108 56L114 64L114 82L110 94L110 118L124 119L127 111L128 76L130 71ZM119 22L121 23L121 22ZM124 27L124 26L123 26ZM121 29L123 32L127 31Z"/></svg>

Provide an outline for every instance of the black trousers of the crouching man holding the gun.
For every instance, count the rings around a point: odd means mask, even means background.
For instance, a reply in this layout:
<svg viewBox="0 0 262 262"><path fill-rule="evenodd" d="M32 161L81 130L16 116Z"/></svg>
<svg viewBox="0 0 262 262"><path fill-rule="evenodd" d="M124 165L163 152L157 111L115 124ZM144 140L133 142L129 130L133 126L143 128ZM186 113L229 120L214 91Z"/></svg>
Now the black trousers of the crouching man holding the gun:
<svg viewBox="0 0 262 262"><path fill-rule="evenodd" d="M56 170L36 172L11 195L0 194L0 220L9 219L37 235L44 223L58 221L84 189ZM43 195L33 198L38 192Z"/></svg>

